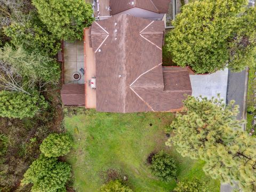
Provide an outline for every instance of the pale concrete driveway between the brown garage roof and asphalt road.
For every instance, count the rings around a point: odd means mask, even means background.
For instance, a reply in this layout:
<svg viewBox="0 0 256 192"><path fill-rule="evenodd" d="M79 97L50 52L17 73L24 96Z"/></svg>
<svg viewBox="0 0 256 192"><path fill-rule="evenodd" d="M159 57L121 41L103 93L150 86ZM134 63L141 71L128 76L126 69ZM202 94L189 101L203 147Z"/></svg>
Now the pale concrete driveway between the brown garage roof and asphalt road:
<svg viewBox="0 0 256 192"><path fill-rule="evenodd" d="M190 75L192 95L194 97L212 98L220 93L220 97L226 102L228 69L219 70L210 75Z"/></svg>

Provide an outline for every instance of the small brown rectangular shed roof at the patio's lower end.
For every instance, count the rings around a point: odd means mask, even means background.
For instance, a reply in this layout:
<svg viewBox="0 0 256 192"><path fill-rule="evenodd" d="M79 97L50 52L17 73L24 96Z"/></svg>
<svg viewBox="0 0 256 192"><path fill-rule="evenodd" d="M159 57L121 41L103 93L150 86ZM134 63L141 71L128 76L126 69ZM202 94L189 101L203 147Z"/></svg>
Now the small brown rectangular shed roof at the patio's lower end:
<svg viewBox="0 0 256 192"><path fill-rule="evenodd" d="M60 94L65 106L85 106L84 84L64 84Z"/></svg>

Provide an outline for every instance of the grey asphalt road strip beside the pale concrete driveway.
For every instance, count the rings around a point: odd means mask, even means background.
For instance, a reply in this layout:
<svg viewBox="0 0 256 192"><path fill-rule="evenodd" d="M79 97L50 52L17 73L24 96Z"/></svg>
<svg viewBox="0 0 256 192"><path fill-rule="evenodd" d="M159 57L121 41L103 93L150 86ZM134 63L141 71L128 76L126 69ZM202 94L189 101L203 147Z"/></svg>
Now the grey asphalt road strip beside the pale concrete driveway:
<svg viewBox="0 0 256 192"><path fill-rule="evenodd" d="M237 115L237 119L245 118L247 78L246 70L240 73L228 71L227 103L235 100L236 104L240 106L240 113Z"/></svg>

